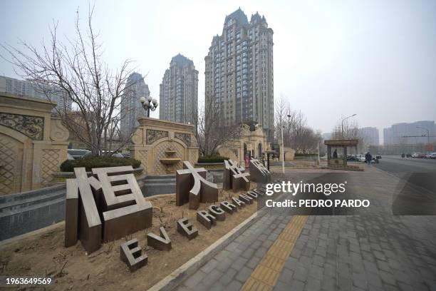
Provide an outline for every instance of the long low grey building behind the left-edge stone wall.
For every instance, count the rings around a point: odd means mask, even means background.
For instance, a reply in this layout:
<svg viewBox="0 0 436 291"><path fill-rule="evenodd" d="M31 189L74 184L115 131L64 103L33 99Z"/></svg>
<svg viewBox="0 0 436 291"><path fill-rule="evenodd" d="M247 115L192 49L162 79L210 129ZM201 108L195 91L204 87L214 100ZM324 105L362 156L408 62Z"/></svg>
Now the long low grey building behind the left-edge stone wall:
<svg viewBox="0 0 436 291"><path fill-rule="evenodd" d="M19 80L16 78L0 76L0 92L56 101L56 108L63 108L64 101L67 100L66 109L67 111L71 111L72 102L64 96L65 91L62 91L61 88L47 86L29 80ZM56 108L53 108L53 113L56 112Z"/></svg>

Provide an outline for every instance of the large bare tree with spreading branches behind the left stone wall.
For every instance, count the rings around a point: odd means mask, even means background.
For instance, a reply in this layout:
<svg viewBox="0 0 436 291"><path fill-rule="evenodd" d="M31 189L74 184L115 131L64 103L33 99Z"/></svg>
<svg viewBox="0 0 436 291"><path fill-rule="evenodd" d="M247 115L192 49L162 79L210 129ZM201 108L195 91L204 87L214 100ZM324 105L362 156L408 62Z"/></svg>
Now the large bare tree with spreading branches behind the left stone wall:
<svg viewBox="0 0 436 291"><path fill-rule="evenodd" d="M1 47L9 54L2 55L12 63L17 73L41 88L59 88L63 105L56 114L73 136L83 142L94 155L108 153L113 140L118 139L118 148L130 141L123 140L119 132L120 103L128 89L126 81L132 61L125 60L116 71L110 70L103 61L103 48L98 42L98 33L92 26L94 7L89 7L85 32L79 24L76 12L76 39L60 41L57 24L51 27L50 44L42 42L42 47L21 41L21 49L9 44ZM47 98L51 98L47 92ZM70 111L68 104L72 104Z"/></svg>

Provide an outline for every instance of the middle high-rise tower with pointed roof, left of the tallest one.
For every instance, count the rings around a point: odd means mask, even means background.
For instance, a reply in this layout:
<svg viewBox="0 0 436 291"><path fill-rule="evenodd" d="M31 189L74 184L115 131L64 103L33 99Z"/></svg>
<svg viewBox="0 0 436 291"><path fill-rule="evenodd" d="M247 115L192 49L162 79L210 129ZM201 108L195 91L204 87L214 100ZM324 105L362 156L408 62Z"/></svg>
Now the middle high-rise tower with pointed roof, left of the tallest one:
<svg viewBox="0 0 436 291"><path fill-rule="evenodd" d="M197 118L198 71L180 53L171 59L160 84L159 118L194 124Z"/></svg>

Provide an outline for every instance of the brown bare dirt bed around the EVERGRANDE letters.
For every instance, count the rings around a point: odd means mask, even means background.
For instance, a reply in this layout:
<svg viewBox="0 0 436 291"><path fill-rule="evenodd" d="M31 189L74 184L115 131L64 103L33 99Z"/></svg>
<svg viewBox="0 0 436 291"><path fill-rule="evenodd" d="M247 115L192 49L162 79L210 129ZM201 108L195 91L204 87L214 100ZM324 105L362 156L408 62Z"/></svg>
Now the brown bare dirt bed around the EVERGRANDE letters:
<svg viewBox="0 0 436 291"><path fill-rule="evenodd" d="M256 183L251 182L251 188L256 188ZM232 190L220 189L219 202L230 200L240 193L245 191L233 193ZM50 230L1 246L0 275L51 276L55 282L48 285L46 290L147 290L249 218L257 207L254 202L239 209L234 215L227 214L225 221L218 221L217 226L207 230L197 222L197 210L188 210L187 204L181 207L175 205L174 194L149 200L153 205L152 228L105 243L100 250L87 256L81 242L68 248L63 246L64 225L61 223ZM202 203L199 210L205 210L209 205L211 203ZM182 217L188 217L199 230L197 238L187 240L177 233L176 221ZM165 227L172 241L170 251L147 247L147 233L159 235L160 225ZM142 253L145 252L148 256L148 264L133 273L120 260L120 245L131 238L137 238Z"/></svg>

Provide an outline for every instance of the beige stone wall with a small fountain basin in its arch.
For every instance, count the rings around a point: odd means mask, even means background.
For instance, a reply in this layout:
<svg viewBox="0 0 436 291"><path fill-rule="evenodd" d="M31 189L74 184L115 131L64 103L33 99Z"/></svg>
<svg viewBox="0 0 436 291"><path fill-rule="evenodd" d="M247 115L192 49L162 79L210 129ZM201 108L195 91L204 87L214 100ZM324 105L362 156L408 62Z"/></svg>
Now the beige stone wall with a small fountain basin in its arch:
<svg viewBox="0 0 436 291"><path fill-rule="evenodd" d="M130 153L140 160L147 175L165 175L182 169L184 160L198 160L194 126L155 118L140 117L132 137ZM165 153L167 151L167 153ZM169 153L170 152L170 153ZM172 165L165 160L174 159Z"/></svg>

